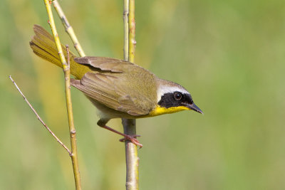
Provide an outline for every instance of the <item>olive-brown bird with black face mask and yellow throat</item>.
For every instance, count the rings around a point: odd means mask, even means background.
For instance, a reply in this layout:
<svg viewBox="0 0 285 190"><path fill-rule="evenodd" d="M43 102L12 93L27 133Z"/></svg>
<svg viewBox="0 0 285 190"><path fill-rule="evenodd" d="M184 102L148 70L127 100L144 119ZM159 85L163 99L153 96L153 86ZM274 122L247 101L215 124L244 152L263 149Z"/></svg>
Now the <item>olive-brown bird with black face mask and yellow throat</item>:
<svg viewBox="0 0 285 190"><path fill-rule="evenodd" d="M62 67L53 36L41 26L33 26L33 53ZM63 47L66 56L66 48ZM145 68L125 60L104 57L77 58L70 53L71 85L81 90L98 109L97 124L116 132L134 144L138 139L106 126L113 118L153 117L182 110L203 113L188 91L177 83L157 78Z"/></svg>

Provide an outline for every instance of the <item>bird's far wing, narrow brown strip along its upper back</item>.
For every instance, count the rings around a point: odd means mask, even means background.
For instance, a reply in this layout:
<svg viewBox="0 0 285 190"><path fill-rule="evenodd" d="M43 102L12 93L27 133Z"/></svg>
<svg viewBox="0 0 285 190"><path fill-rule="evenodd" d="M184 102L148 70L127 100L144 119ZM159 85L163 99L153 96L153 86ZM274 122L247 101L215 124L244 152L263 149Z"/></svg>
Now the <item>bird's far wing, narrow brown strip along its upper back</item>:
<svg viewBox="0 0 285 190"><path fill-rule="evenodd" d="M93 68L98 68L103 71L110 71L112 73L123 73L125 66L134 65L125 60L115 59L115 58L105 58L105 57L81 57L74 58L76 63L82 65L90 65Z"/></svg>

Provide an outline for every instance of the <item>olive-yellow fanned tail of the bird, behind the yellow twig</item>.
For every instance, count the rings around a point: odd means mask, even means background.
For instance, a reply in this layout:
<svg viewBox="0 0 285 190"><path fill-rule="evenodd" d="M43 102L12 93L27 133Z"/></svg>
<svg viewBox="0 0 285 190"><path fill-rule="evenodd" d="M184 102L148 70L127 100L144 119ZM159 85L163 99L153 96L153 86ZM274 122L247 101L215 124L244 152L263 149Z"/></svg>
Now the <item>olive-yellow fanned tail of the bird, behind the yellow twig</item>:
<svg viewBox="0 0 285 190"><path fill-rule="evenodd" d="M51 36L48 31L46 31L43 27L34 25L33 31L35 36L31 38L30 46L33 49L33 53L35 53L40 58L48 60L49 62L58 65L58 67L62 68L61 60L58 56L58 50L56 48L56 43L54 42L53 36ZM67 58L66 47L61 44L63 48L63 54ZM71 74L76 78L80 79L83 75L90 70L86 65L80 65L74 61L76 56L73 53L69 53L71 60Z"/></svg>

